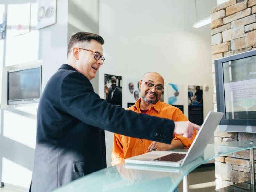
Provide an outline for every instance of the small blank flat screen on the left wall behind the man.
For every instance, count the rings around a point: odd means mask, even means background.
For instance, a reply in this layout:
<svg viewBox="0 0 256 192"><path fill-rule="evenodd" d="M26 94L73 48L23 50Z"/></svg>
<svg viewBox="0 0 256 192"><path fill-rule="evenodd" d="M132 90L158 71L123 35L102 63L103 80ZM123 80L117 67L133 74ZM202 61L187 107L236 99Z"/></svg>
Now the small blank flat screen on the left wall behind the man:
<svg viewBox="0 0 256 192"><path fill-rule="evenodd" d="M38 103L41 96L42 66L7 73L8 105Z"/></svg>

